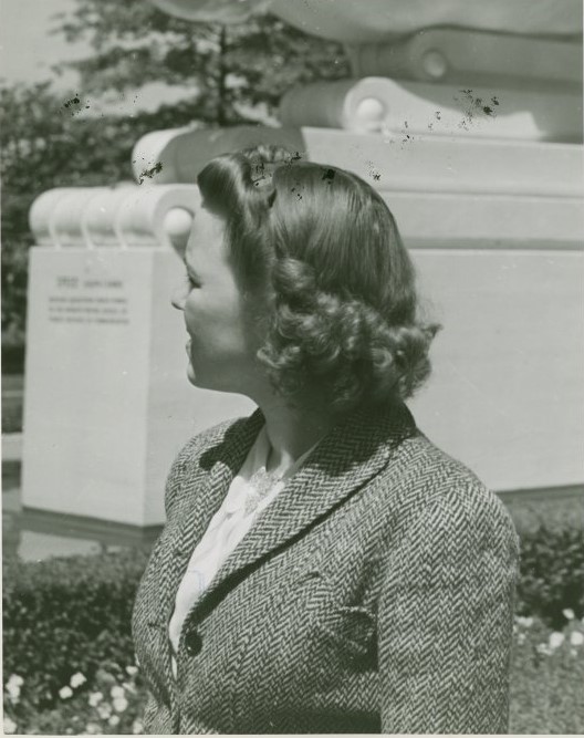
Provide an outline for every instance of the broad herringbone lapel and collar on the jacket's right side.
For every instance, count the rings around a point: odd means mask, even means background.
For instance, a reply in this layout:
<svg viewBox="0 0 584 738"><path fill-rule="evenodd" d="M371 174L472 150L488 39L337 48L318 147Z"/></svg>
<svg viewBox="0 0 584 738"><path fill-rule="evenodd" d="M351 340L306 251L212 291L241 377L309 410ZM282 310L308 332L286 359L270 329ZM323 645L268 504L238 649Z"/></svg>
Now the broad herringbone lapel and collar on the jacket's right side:
<svg viewBox="0 0 584 738"><path fill-rule="evenodd" d="M387 466L399 443L415 433L414 419L403 404L385 412L357 410L334 427L227 559L196 612L205 616L228 580L285 545L364 487Z"/></svg>

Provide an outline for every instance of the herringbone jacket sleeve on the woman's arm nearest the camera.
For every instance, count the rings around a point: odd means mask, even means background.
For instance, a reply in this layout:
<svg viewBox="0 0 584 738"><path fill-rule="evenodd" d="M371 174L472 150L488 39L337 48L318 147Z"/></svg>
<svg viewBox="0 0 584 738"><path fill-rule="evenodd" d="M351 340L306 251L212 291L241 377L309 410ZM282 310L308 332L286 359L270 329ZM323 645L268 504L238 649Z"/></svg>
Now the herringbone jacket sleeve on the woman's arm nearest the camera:
<svg viewBox="0 0 584 738"><path fill-rule="evenodd" d="M518 539L480 482L396 531L378 611L382 732L505 732Z"/></svg>

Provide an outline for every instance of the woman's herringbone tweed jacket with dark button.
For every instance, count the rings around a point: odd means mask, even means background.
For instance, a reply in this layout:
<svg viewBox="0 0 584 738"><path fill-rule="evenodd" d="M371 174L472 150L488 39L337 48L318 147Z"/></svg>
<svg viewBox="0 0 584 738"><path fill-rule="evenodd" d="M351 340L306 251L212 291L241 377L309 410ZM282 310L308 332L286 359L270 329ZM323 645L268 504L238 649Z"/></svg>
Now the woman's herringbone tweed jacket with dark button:
<svg viewBox="0 0 584 738"><path fill-rule="evenodd" d="M498 498L409 410L357 410L261 513L182 627L189 557L264 423L190 440L142 579L154 734L504 732L518 540Z"/></svg>

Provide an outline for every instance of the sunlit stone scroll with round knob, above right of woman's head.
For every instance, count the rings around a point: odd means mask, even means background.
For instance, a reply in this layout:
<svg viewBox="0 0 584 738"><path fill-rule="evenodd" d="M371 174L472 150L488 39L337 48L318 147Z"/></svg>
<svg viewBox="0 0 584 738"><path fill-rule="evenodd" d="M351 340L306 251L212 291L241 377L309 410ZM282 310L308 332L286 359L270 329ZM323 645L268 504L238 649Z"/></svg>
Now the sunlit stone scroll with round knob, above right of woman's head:
<svg viewBox="0 0 584 738"><path fill-rule="evenodd" d="M282 97L280 118L288 126L343 128L354 133L394 133L582 141L577 93L460 89L364 77L316 82Z"/></svg>

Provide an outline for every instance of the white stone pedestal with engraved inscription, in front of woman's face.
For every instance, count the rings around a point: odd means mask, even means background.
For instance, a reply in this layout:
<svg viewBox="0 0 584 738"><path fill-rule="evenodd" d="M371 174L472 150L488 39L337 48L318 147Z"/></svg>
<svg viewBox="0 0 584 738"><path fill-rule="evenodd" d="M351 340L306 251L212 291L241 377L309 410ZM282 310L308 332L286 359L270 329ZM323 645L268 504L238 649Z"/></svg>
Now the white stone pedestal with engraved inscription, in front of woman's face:
<svg viewBox="0 0 584 738"><path fill-rule="evenodd" d="M22 505L36 527L40 511L73 516L80 530L83 519L92 530L88 519L159 524L185 441L253 407L186 378L187 336L170 305L185 269L168 232L185 237L197 196L195 186L53 190L33 208L45 246L30 260Z"/></svg>

